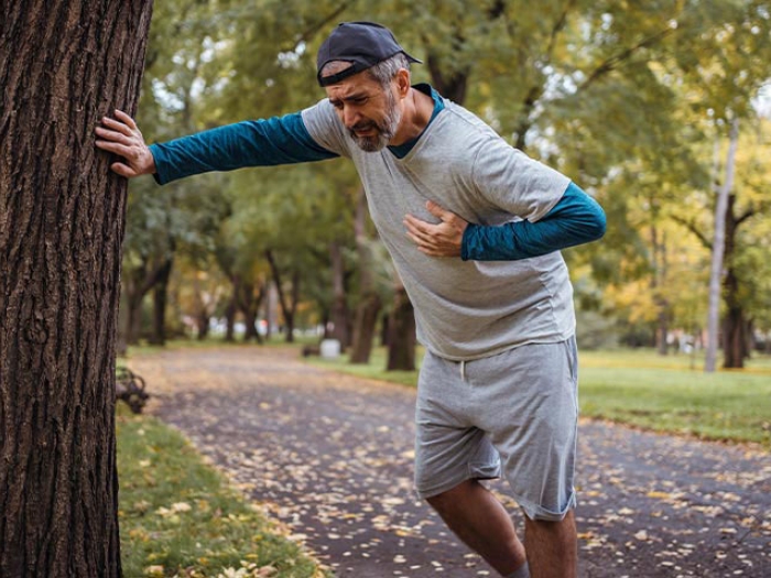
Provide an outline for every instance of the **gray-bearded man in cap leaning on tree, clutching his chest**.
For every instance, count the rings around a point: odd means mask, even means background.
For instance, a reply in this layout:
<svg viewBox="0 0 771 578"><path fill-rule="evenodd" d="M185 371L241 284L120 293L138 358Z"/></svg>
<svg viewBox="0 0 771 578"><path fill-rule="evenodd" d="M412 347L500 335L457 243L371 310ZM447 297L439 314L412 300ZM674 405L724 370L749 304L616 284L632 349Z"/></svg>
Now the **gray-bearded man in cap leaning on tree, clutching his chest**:
<svg viewBox="0 0 771 578"><path fill-rule="evenodd" d="M354 161L415 307L421 368L415 487L501 576L576 572L577 402L573 293L560 249L600 238L602 209L427 85L378 24L319 48L324 99L302 112L146 146L116 111L97 145L127 177ZM525 547L479 480L507 477Z"/></svg>

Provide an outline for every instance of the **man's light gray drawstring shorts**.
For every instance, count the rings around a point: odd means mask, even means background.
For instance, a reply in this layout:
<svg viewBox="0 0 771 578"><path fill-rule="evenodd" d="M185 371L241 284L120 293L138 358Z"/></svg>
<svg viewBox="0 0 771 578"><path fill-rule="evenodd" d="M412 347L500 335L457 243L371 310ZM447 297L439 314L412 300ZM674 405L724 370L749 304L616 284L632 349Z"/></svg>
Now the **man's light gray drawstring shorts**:
<svg viewBox="0 0 771 578"><path fill-rule="evenodd" d="M473 361L426 353L417 385L415 488L431 498L503 476L531 520L575 506L575 338Z"/></svg>

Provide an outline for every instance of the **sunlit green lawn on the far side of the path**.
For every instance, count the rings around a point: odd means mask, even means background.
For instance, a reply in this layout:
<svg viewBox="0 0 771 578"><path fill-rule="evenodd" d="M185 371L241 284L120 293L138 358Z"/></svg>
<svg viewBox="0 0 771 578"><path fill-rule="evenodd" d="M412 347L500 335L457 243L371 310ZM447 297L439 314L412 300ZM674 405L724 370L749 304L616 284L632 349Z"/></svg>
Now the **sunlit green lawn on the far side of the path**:
<svg viewBox="0 0 771 578"><path fill-rule="evenodd" d="M367 366L346 359L314 363L360 377L414 386L416 372L387 372L377 349ZM692 369L693 367L693 369ZM758 443L771 449L771 358L745 370L704 373L703 360L651 350L583 351L582 415L704 439Z"/></svg>

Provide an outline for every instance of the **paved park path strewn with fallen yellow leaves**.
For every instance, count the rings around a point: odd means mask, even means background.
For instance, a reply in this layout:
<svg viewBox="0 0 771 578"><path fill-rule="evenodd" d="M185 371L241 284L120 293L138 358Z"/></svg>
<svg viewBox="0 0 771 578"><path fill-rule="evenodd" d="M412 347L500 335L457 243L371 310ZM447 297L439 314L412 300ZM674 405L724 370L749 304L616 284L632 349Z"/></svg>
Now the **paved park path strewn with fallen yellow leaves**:
<svg viewBox="0 0 771 578"><path fill-rule="evenodd" d="M129 366L158 394L152 412L336 576L496 576L412 491L414 390L274 348L169 351ZM588 421L580 436L582 578L771 577L770 455Z"/></svg>

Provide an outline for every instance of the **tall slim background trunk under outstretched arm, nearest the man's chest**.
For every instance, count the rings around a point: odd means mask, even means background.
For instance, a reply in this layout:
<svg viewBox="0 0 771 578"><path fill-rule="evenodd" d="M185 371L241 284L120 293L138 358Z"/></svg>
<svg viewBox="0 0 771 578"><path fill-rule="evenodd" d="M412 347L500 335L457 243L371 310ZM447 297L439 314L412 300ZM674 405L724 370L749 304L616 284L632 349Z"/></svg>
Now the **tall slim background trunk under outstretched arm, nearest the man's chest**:
<svg viewBox="0 0 771 578"><path fill-rule="evenodd" d="M367 238L367 198L363 188L359 189L359 198L356 205L356 248L359 254L359 306L356 309L354 323L351 363L369 363L374 340L374 328L382 308L380 295L376 291L372 277L373 259Z"/></svg>

